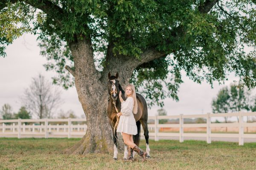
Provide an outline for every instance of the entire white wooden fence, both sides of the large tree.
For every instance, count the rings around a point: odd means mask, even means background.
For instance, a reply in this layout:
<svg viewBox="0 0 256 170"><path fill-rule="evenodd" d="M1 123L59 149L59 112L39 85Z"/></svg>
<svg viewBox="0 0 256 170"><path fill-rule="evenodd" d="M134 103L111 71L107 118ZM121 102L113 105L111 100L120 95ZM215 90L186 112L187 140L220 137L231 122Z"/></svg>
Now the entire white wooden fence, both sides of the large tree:
<svg viewBox="0 0 256 170"><path fill-rule="evenodd" d="M235 123L212 123L213 117L239 117L239 122ZM219 138L239 138L239 145L244 144L244 138L255 138L256 134L244 134L244 127L256 127L256 123L244 122L244 116L256 116L256 112L237 112L237 113L207 113L201 115L173 115L173 116L149 116L148 119L154 119L154 124L148 124L149 129L153 129L154 132L150 132L149 136L154 136L154 140L158 141L159 137L179 137L180 142L183 142L183 137L205 137L208 144L211 143L211 137ZM205 118L207 123L202 124L184 124L184 118ZM159 124L160 119L179 119L178 124ZM0 137L6 135L17 135L21 138L22 135L44 135L45 138L49 137L49 134L54 137L55 135L66 135L68 138L71 136L82 137L87 130L86 124L74 125L72 122L84 122L86 119L81 118L68 118L68 119L12 119L12 120L0 120ZM37 122L38 125L25 125L24 122ZM67 125L51 125L50 122L67 122ZM5 123L12 123L7 125ZM179 133L160 133L161 127L176 127L179 128ZM205 127L206 133L184 133L185 127ZM238 127L239 133L212 133L212 127ZM143 132L141 133L143 135Z"/></svg>

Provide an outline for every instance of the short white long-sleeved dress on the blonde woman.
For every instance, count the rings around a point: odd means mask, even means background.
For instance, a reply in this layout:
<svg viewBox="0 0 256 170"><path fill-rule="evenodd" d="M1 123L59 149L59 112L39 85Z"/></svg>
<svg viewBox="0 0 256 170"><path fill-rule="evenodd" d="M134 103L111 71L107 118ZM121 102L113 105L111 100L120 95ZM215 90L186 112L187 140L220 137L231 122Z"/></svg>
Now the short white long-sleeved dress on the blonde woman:
<svg viewBox="0 0 256 170"><path fill-rule="evenodd" d="M116 132L127 133L129 135L137 134L136 121L133 115L134 100L132 97L128 97L126 101L121 104L122 115L119 119Z"/></svg>

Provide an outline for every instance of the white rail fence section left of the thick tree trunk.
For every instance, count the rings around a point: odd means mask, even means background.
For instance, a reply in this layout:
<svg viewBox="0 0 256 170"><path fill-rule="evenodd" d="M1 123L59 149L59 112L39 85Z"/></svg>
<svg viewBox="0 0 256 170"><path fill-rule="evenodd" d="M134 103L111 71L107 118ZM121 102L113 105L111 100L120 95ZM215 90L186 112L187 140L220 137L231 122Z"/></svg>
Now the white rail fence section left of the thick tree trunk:
<svg viewBox="0 0 256 170"><path fill-rule="evenodd" d="M0 120L0 137L8 135L22 136L83 136L86 133L86 124L72 124L72 122L85 122L85 118L66 118L66 119L10 119ZM34 123L26 125L25 122ZM54 125L50 124L55 122ZM67 124L56 124L56 122L65 122ZM9 124L6 124L9 123ZM35 124L36 123L36 124Z"/></svg>

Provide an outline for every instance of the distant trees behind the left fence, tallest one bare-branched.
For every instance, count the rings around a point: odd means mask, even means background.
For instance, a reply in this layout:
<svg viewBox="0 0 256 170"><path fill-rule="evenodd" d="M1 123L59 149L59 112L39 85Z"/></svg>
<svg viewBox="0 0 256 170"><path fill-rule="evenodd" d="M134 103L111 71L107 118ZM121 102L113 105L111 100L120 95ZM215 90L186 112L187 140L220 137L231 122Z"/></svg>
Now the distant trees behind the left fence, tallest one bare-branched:
<svg viewBox="0 0 256 170"><path fill-rule="evenodd" d="M32 78L29 88L24 90L20 98L20 107L17 113L12 111L9 104L4 104L0 109L0 118L3 119L30 119L30 118L53 118L53 112L62 104L60 89L52 86L46 78L39 74ZM64 112L60 110L58 118L76 118L72 110Z"/></svg>

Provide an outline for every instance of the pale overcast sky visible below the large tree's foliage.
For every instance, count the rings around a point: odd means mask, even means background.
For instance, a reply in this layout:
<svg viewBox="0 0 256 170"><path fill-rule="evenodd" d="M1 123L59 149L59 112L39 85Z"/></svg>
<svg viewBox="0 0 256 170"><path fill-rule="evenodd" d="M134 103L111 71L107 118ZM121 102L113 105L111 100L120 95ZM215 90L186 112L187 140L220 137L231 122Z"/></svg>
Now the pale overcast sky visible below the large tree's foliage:
<svg viewBox="0 0 256 170"><path fill-rule="evenodd" d="M34 35L23 35L7 47L7 57L0 57L0 109L3 104L10 104L13 112L17 112L21 107L20 96L23 95L24 89L31 84L32 77L38 76L39 73L44 75L49 81L55 72L46 72L43 64L47 62L46 58L40 55L40 48ZM196 84L183 76L184 83L180 85L178 96L180 101L176 102L168 98L164 101L163 107L167 111L167 115L178 114L202 114L211 112L211 102L219 89L226 85L230 85L234 80L234 76L230 75L229 80L223 85L217 82L213 84L213 89L209 84L203 82ZM75 87L68 90L62 89L61 98L64 100L56 113L60 109L67 112L73 110L78 117L84 114ZM149 115L157 114L154 106L149 109ZM57 117L57 114L55 114Z"/></svg>

